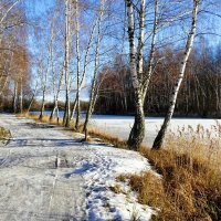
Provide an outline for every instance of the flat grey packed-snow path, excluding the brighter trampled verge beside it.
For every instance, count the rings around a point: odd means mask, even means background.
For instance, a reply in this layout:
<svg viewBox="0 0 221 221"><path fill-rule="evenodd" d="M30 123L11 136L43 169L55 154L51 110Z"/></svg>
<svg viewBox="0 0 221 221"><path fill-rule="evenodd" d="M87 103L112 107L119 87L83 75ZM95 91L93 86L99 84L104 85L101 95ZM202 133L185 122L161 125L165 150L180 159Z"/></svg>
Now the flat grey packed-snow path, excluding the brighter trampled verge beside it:
<svg viewBox="0 0 221 221"><path fill-rule="evenodd" d="M73 140L60 128L10 115L0 115L0 123L14 137L0 148L0 220L83 218L84 180L77 173L64 176L75 167L69 148Z"/></svg>

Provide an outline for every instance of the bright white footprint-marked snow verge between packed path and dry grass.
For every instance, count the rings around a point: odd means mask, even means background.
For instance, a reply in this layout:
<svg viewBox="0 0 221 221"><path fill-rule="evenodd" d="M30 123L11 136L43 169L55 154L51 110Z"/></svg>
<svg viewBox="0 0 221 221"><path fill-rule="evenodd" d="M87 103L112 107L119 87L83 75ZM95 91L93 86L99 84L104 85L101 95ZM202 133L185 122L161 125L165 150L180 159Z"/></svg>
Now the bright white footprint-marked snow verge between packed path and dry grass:
<svg viewBox="0 0 221 221"><path fill-rule="evenodd" d="M148 161L138 152L93 145L93 157L74 171L85 179L87 220L147 221L154 210L137 202L137 196L123 182L119 175L150 170ZM119 192L113 191L118 187Z"/></svg>

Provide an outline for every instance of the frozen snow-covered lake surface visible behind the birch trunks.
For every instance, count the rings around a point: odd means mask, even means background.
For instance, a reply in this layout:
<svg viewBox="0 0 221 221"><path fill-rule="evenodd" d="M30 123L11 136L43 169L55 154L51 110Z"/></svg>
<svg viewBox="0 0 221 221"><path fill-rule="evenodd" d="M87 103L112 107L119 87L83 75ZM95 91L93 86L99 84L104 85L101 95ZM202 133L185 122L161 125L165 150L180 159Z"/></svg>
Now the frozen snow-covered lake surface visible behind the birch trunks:
<svg viewBox="0 0 221 221"><path fill-rule="evenodd" d="M164 118L148 117L146 118L146 133L144 144L151 146L155 137L164 122ZM127 139L133 127L134 118L129 116L107 116L97 115L91 120L91 125L97 127L101 131L117 136L122 139ZM198 125L201 125L203 133L211 133L211 137L221 137L217 130L217 124L221 125L221 119L201 119L201 118L173 118L171 119L170 130L175 134L190 134L191 136L197 130ZM202 131L201 131L202 133Z"/></svg>

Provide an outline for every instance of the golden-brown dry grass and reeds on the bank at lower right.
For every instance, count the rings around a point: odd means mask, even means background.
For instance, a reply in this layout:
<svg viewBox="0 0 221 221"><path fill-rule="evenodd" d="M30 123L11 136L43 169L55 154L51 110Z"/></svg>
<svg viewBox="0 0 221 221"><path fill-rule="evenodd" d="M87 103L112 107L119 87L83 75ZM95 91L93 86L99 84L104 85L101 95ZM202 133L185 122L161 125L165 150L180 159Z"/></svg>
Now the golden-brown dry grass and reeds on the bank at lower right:
<svg viewBox="0 0 221 221"><path fill-rule="evenodd" d="M169 136L159 151L140 148L161 179L145 172L130 176L129 183L140 203L159 208L152 220L221 220L220 140L202 139L200 133L188 139Z"/></svg>

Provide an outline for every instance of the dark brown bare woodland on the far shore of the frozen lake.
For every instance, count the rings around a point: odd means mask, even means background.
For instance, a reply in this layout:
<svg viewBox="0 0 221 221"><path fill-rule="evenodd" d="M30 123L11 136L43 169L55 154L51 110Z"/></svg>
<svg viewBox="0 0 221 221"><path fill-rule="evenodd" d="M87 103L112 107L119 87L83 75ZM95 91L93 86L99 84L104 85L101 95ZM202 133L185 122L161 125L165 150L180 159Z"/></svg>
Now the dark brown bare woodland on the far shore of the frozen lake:
<svg viewBox="0 0 221 221"><path fill-rule="evenodd" d="M175 114L178 116L221 116L221 46L212 50L202 40L194 48L187 65ZM155 67L147 97L145 113L164 115L175 84L180 54L171 48L156 53ZM145 61L147 70L148 61ZM134 114L134 93L127 57L118 54L115 62L99 73L96 113Z"/></svg>

